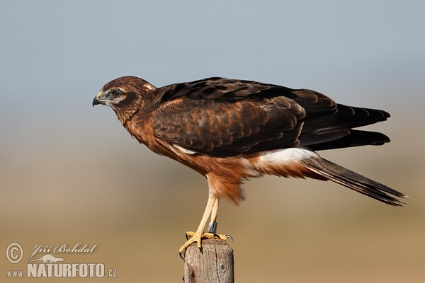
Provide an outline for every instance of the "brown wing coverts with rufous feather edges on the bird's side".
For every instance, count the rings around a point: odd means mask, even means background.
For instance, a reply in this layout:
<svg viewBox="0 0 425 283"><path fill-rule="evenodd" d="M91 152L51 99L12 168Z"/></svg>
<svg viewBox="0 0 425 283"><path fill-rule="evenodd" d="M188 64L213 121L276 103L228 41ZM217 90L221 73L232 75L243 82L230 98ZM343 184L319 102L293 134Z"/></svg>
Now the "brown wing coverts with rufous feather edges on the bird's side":
<svg viewBox="0 0 425 283"><path fill-rule="evenodd" d="M302 108L291 109L290 103L273 100L225 103L179 98L159 107L152 122L154 134L171 144L214 156L234 156L299 128L298 119L302 117ZM298 129L288 146L297 144L299 132Z"/></svg>

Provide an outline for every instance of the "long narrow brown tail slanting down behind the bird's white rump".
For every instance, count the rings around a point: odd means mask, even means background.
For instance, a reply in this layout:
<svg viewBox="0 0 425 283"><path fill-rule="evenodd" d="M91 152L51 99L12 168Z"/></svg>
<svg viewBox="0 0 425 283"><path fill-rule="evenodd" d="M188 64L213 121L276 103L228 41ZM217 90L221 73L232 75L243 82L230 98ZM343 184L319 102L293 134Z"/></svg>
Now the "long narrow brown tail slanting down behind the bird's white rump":
<svg viewBox="0 0 425 283"><path fill-rule="evenodd" d="M398 200L391 195L408 198L407 195L397 192L397 190L392 190L392 188L387 187L386 185L370 180L363 175L348 170L347 168L332 163L331 161L327 161L324 158L306 158L300 160L300 163L302 163L305 168L322 176L323 178L326 178L327 180L344 185L351 190L360 192L368 197L373 197L375 200L385 202L386 204L396 207L402 207L402 204L405 204L405 202Z"/></svg>

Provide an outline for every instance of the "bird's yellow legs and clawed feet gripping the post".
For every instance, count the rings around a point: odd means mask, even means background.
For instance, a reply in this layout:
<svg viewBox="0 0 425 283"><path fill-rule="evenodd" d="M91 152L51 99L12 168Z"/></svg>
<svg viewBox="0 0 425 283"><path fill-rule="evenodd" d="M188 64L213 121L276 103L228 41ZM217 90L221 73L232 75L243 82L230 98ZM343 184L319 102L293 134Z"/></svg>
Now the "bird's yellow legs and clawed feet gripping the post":
<svg viewBox="0 0 425 283"><path fill-rule="evenodd" d="M207 206L205 207L205 212L202 216L202 219L200 220L200 224L198 226L198 229L196 229L196 232L193 233L191 231L188 231L186 233L186 236L191 237L186 241L186 243L181 246L179 249L179 253L183 255L184 250L188 248L188 246L191 246L192 243L198 243L198 248L202 252L202 246L201 246L201 239L202 238L221 238L222 240L226 240L225 235L217 235L215 233L204 233L205 224L207 224L208 217L211 214L211 221L215 221L217 219L217 210L218 210L218 199L215 197L209 197Z"/></svg>

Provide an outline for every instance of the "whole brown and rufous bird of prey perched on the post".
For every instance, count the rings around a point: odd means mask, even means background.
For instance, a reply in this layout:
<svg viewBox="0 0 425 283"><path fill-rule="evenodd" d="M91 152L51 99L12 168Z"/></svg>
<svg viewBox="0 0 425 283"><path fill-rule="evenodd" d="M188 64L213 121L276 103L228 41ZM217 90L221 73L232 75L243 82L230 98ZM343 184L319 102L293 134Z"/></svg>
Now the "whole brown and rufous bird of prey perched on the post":
<svg viewBox="0 0 425 283"><path fill-rule="evenodd" d="M216 234L220 199L239 202L243 181L264 174L331 180L393 206L404 204L396 197L407 197L316 152L389 142L385 134L354 129L387 120L383 110L338 104L307 89L219 77L156 88L123 76L103 86L97 104L111 106L137 141L206 177L205 212L180 254L194 242L202 251L202 238L225 239Z"/></svg>

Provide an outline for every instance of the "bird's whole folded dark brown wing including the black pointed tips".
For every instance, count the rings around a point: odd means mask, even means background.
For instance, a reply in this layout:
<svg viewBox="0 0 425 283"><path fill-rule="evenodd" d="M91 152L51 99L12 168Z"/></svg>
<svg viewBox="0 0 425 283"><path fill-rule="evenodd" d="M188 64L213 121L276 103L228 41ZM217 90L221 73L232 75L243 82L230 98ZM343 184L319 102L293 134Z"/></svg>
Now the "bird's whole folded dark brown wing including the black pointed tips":
<svg viewBox="0 0 425 283"><path fill-rule="evenodd" d="M339 105L315 91L210 78L165 86L159 93L155 136L210 156L389 141L380 133L352 130L386 120L387 112Z"/></svg>

